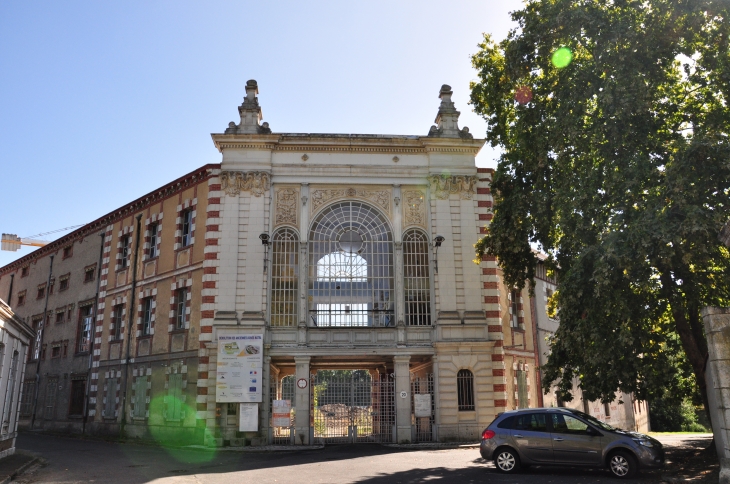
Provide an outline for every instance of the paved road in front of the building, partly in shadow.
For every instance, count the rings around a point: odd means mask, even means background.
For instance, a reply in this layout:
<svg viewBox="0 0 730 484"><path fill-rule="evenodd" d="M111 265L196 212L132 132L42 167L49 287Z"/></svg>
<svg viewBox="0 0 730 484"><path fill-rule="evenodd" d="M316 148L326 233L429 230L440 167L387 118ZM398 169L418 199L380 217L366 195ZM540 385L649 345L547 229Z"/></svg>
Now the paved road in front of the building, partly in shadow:
<svg viewBox="0 0 730 484"><path fill-rule="evenodd" d="M21 434L17 445L40 453L48 462L16 481L23 484L617 482L605 471L584 469L531 468L504 476L473 448L403 451L379 445L338 445L300 452L204 452L29 433ZM660 473L643 473L634 482L660 482Z"/></svg>

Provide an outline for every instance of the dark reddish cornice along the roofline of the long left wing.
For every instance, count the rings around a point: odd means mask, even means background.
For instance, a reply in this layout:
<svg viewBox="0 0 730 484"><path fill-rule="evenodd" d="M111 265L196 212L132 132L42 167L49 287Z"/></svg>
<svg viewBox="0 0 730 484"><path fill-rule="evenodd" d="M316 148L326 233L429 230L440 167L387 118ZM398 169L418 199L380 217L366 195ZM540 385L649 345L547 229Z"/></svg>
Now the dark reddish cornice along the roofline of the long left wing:
<svg viewBox="0 0 730 484"><path fill-rule="evenodd" d="M36 259L40 259L48 254L58 251L59 249L65 247L71 242L83 239L92 234L98 234L99 232L103 231L109 224L112 224L119 219L138 213L141 210L149 207L150 205L159 202L160 200L164 200L181 190L185 190L192 185L207 180L211 176L217 175L220 167L220 164L211 163L208 165L204 165L186 175L183 175L180 178L173 180L170 183L163 185L160 188L146 195L143 195L138 199L119 207L116 210L107 213L106 215L94 220L93 222L90 222L83 227L74 230L73 232L61 237L60 239L54 240L50 244L43 246L38 250L35 250L30 254L21 257L20 259L13 261L4 267L0 267L0 275L5 275L13 272Z"/></svg>

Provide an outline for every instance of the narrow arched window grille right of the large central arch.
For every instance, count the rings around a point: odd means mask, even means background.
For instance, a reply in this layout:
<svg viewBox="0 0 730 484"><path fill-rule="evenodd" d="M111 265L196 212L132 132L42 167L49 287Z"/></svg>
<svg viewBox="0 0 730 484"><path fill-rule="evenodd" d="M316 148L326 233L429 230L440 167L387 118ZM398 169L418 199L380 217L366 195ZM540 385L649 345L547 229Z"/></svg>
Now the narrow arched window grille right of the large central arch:
<svg viewBox="0 0 730 484"><path fill-rule="evenodd" d="M403 284L406 321L412 326L431 324L431 278L426 234L409 230L403 235Z"/></svg>

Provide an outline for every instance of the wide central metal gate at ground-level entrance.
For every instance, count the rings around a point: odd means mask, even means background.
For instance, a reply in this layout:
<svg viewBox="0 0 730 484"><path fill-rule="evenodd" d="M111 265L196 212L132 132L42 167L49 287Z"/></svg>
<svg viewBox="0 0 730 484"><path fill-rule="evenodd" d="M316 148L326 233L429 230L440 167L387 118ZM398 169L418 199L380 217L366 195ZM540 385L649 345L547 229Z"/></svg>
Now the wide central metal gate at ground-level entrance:
<svg viewBox="0 0 730 484"><path fill-rule="evenodd" d="M368 370L320 370L310 401L315 443L393 442L395 378Z"/></svg>

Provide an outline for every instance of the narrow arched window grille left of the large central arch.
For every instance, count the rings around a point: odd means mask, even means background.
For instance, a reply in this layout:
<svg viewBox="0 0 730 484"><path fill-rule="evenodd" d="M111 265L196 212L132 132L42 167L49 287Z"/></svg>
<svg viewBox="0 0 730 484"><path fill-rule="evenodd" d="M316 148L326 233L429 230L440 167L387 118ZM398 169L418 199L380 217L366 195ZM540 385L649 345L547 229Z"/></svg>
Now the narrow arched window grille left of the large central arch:
<svg viewBox="0 0 730 484"><path fill-rule="evenodd" d="M271 325L296 326L299 247L297 234L292 229L282 229L274 234L271 272Z"/></svg>

